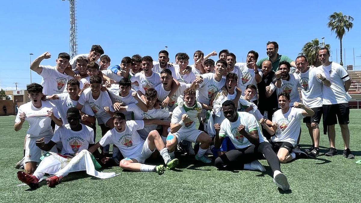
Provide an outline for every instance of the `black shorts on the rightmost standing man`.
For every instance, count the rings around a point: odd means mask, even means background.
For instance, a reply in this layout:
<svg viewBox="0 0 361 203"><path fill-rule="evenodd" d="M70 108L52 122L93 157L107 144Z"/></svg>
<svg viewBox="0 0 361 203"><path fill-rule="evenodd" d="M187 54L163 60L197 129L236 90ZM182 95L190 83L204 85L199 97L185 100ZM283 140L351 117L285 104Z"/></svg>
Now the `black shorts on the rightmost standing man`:
<svg viewBox="0 0 361 203"><path fill-rule="evenodd" d="M323 105L323 124L335 125L337 120L339 124L350 123L350 107L348 103Z"/></svg>

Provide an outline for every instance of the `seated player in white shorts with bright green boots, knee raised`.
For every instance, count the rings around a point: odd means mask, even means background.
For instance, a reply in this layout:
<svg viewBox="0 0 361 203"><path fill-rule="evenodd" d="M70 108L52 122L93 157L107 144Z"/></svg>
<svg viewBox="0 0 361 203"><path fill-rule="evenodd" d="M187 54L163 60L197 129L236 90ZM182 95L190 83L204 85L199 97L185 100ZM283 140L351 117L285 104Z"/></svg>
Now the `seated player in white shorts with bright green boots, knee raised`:
<svg viewBox="0 0 361 203"><path fill-rule="evenodd" d="M152 130L147 139L142 139L137 130L141 130L145 125L164 125L161 120L144 120L144 121L126 121L123 113L116 112L113 115L114 128L109 130L99 142L89 148L90 152L97 150L100 146L115 144L125 159L120 161L119 166L122 169L164 173L164 165L147 165L144 164L157 149L164 159L164 163L170 169L178 165L178 159L170 159L167 148L165 148L162 138L156 130Z"/></svg>

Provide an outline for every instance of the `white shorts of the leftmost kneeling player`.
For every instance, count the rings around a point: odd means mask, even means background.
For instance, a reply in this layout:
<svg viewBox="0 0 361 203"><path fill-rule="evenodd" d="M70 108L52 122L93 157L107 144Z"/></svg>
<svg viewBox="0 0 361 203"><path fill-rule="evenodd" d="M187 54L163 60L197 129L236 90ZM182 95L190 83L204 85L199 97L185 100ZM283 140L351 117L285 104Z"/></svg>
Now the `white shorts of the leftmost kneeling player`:
<svg viewBox="0 0 361 203"><path fill-rule="evenodd" d="M51 140L51 138L45 138L44 142L48 143ZM30 161L34 161L34 162L40 162L40 157L42 156L42 151L39 147L36 146L36 139L32 138L30 139L29 137L26 138L25 141L25 159L24 159L24 164L26 164L27 162ZM51 152L58 152L56 149L56 145L50 150ZM43 154L45 154L46 152L43 151Z"/></svg>

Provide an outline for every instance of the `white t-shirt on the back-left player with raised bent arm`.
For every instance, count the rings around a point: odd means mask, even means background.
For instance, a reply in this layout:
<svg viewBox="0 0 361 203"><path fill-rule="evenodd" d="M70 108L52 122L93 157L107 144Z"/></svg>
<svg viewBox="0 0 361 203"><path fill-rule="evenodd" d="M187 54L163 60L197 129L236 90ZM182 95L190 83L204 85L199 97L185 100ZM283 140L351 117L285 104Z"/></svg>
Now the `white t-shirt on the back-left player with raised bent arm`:
<svg viewBox="0 0 361 203"><path fill-rule="evenodd" d="M60 94L64 92L66 83L71 76L58 72L56 66L40 65L43 70L39 74L42 76L42 82L44 95Z"/></svg>

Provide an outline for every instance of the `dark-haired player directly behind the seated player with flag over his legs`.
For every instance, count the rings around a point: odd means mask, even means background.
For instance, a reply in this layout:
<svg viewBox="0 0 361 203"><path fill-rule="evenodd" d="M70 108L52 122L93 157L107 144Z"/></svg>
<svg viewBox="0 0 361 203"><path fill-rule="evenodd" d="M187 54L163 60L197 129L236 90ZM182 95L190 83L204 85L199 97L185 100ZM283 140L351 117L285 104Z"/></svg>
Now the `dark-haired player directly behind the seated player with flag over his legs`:
<svg viewBox="0 0 361 203"><path fill-rule="evenodd" d="M51 103L57 106L61 120L63 121L63 125L68 124L68 120L66 119L66 112L69 108L77 106L79 100L78 94L80 91L79 81L76 79L70 79L67 83L67 86L68 92L66 93L46 96L47 99L51 100ZM84 104L80 114L82 124L92 126L92 124L95 123L94 113L88 103Z"/></svg>

